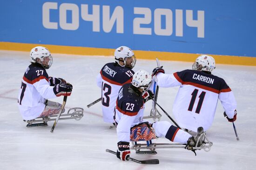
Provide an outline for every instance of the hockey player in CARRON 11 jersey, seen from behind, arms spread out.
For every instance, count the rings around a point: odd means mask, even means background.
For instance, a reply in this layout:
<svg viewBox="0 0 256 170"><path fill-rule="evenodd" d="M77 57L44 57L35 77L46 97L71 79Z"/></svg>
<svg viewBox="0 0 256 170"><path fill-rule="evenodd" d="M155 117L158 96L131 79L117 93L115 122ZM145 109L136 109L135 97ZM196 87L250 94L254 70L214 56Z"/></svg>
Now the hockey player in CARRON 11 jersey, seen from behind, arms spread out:
<svg viewBox="0 0 256 170"><path fill-rule="evenodd" d="M218 99L229 122L235 121L233 92L222 78L211 74L215 69L215 59L201 55L196 58L192 69L164 74L164 69L158 67L152 73L159 87L180 86L173 104L173 114L179 126L194 132L202 126L207 131L212 125Z"/></svg>

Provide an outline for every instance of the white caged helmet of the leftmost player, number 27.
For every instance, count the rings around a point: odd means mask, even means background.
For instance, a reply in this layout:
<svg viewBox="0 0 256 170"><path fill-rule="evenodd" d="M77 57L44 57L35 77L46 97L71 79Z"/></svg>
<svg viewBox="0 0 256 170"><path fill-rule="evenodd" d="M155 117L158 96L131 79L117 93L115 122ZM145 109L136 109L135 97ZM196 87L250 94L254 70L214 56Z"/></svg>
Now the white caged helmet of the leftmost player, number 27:
<svg viewBox="0 0 256 170"><path fill-rule="evenodd" d="M53 63L50 51L41 46L34 47L30 51L30 58L32 63L40 63L45 69L49 69Z"/></svg>

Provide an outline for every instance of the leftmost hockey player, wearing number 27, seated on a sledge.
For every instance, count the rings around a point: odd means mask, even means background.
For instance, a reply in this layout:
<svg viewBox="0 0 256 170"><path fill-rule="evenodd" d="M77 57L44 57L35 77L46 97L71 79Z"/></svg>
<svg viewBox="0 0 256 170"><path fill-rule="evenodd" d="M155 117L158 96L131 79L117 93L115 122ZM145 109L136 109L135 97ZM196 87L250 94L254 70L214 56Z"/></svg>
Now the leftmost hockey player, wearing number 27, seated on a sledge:
<svg viewBox="0 0 256 170"><path fill-rule="evenodd" d="M20 113L24 120L58 114L61 104L47 99L69 96L72 85L61 78L49 77L46 69L52 65L50 51L41 46L30 51L31 64L22 78L18 97ZM64 110L63 110L64 112Z"/></svg>

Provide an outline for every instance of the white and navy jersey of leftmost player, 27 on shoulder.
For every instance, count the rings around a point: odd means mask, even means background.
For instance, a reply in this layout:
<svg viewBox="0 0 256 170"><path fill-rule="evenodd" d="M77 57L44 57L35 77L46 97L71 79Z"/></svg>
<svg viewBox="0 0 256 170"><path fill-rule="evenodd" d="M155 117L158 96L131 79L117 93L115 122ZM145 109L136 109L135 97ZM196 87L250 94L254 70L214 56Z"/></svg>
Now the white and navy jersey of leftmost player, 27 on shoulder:
<svg viewBox="0 0 256 170"><path fill-rule="evenodd" d="M40 66L29 65L21 82L18 97L20 113L24 120L40 116L45 108L45 101L55 98L53 86L50 86L46 70Z"/></svg>

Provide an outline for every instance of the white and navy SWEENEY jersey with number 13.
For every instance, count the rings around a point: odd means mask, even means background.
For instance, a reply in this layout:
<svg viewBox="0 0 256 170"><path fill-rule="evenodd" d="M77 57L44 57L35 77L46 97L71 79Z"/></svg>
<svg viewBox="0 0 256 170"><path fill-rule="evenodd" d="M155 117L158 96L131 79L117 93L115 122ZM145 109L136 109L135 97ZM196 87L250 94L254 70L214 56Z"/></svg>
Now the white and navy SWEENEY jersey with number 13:
<svg viewBox="0 0 256 170"><path fill-rule="evenodd" d="M134 71L121 67L117 63L105 64L97 76L97 85L101 88L103 120L114 123L113 115L118 92L123 84L130 83Z"/></svg>

